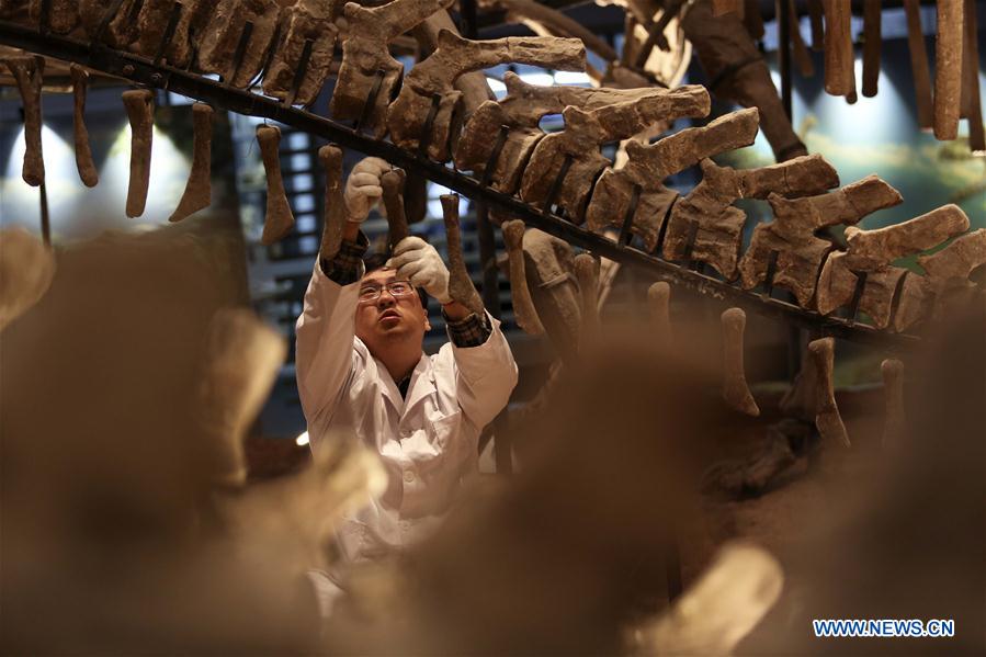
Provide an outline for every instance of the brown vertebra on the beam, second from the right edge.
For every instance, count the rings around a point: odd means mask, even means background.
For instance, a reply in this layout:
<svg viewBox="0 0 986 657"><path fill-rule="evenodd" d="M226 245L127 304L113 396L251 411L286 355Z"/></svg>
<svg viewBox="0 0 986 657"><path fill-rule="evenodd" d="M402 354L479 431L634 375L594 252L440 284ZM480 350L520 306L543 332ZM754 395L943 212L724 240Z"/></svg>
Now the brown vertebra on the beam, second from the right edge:
<svg viewBox="0 0 986 657"><path fill-rule="evenodd" d="M858 309L869 315L875 327L885 328L891 324L894 297L898 296L893 328L906 329L920 319L926 285L920 276L910 275L906 269L892 263L967 229L968 217L957 205L945 205L879 230L850 226L846 229L849 249L831 253L821 268L815 303L818 311L828 315L849 304L857 286L862 285ZM902 283L905 275L907 279ZM861 276L864 276L862 282Z"/></svg>

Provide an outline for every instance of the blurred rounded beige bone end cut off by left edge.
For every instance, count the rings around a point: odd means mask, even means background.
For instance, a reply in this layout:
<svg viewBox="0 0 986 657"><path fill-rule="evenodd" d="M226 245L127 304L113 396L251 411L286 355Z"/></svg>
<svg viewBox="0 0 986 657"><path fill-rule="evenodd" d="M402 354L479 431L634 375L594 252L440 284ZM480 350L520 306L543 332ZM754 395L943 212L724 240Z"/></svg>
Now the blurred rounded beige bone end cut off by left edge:
<svg viewBox="0 0 986 657"><path fill-rule="evenodd" d="M0 331L31 309L55 277L55 256L23 228L0 230Z"/></svg>

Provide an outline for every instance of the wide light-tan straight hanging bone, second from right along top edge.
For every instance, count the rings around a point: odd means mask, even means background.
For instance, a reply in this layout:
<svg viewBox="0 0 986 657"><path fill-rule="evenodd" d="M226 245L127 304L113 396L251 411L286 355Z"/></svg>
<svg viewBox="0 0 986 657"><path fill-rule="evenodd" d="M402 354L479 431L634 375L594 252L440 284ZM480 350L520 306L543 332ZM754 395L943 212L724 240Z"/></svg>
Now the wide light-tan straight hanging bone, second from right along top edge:
<svg viewBox="0 0 986 657"><path fill-rule="evenodd" d="M934 37L934 138L959 136L962 98L963 0L938 0Z"/></svg>

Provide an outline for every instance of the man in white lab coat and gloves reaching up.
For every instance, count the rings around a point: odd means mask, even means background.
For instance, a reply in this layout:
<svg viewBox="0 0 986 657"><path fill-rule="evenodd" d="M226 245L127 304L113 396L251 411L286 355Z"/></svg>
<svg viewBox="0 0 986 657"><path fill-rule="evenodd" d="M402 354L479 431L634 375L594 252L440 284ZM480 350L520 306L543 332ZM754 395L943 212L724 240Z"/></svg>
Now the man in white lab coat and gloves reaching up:
<svg viewBox="0 0 986 657"><path fill-rule="evenodd" d="M343 564L398 554L430 533L476 472L479 432L517 383L499 322L452 301L434 247L405 238L385 267L365 271L360 223L389 169L377 158L353 168L342 246L316 263L297 321L297 384L311 449L354 437L381 455L388 475L384 495L340 526ZM416 288L442 304L451 342L435 355L422 351L431 327ZM331 578L344 587L341 571ZM325 612L331 594L321 597Z"/></svg>

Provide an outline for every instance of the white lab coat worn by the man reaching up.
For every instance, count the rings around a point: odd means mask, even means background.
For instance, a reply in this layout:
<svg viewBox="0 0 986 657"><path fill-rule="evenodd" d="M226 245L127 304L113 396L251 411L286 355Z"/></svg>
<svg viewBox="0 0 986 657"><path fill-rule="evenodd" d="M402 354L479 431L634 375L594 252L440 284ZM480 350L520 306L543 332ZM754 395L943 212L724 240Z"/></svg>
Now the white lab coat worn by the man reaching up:
<svg viewBox="0 0 986 657"><path fill-rule="evenodd" d="M295 358L311 449L330 430L351 431L387 471L386 492L339 529L342 557L351 562L394 554L431 532L463 478L477 471L479 432L517 384L510 347L489 317L492 333L484 344L449 342L422 355L403 399L387 369L354 335L359 287L340 286L316 263Z"/></svg>

